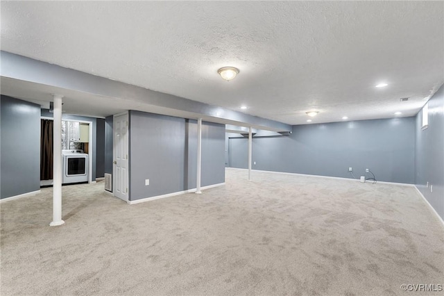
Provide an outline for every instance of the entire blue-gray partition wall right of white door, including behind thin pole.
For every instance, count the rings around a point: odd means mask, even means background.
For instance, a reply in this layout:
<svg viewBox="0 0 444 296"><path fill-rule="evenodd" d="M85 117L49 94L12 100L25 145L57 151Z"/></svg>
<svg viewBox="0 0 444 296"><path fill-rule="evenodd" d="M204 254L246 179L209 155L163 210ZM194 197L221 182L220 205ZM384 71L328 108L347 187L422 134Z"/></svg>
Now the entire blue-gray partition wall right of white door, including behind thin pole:
<svg viewBox="0 0 444 296"><path fill-rule="evenodd" d="M225 126L202 134L202 186L223 183ZM130 111L130 200L196 188L196 135L194 120Z"/></svg>

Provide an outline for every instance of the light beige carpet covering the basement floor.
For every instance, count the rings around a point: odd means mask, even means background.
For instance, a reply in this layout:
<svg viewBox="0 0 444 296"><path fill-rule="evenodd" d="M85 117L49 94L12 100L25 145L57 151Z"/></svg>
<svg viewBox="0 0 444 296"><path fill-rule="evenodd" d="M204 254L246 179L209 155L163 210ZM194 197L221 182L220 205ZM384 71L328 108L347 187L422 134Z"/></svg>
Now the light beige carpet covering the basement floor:
<svg viewBox="0 0 444 296"><path fill-rule="evenodd" d="M128 205L103 182L1 203L6 295L443 295L444 230L416 190L228 169L226 185Z"/></svg>

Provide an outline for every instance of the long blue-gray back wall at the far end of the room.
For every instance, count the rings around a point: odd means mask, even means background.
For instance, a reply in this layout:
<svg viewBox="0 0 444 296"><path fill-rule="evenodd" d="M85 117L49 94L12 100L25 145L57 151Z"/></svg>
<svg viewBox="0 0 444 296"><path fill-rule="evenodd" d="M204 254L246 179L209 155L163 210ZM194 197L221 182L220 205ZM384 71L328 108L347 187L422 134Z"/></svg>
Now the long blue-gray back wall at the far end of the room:
<svg viewBox="0 0 444 296"><path fill-rule="evenodd" d="M253 137L253 170L350 178L369 168L379 181L413 183L415 118L293 126L291 135ZM232 167L247 167L248 139L230 138ZM256 164L254 164L256 162Z"/></svg>

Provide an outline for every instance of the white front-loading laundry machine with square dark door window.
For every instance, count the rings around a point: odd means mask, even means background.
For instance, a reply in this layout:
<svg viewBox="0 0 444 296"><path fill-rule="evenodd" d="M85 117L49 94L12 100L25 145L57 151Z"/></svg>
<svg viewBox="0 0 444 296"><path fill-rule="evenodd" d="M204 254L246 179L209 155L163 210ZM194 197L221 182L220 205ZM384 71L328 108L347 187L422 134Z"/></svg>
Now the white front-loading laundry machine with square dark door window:
<svg viewBox="0 0 444 296"><path fill-rule="evenodd" d="M83 150L62 150L62 183L80 183L88 181L88 154Z"/></svg>

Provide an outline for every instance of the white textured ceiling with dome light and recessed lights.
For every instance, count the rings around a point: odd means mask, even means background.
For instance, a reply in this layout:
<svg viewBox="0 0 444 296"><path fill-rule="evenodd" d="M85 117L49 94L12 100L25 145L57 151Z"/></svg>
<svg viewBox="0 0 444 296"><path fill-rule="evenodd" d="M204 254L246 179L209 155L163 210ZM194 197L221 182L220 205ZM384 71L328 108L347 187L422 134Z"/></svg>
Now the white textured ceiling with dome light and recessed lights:
<svg viewBox="0 0 444 296"><path fill-rule="evenodd" d="M287 124L411 116L444 83L444 2L1 1L1 50Z"/></svg>

